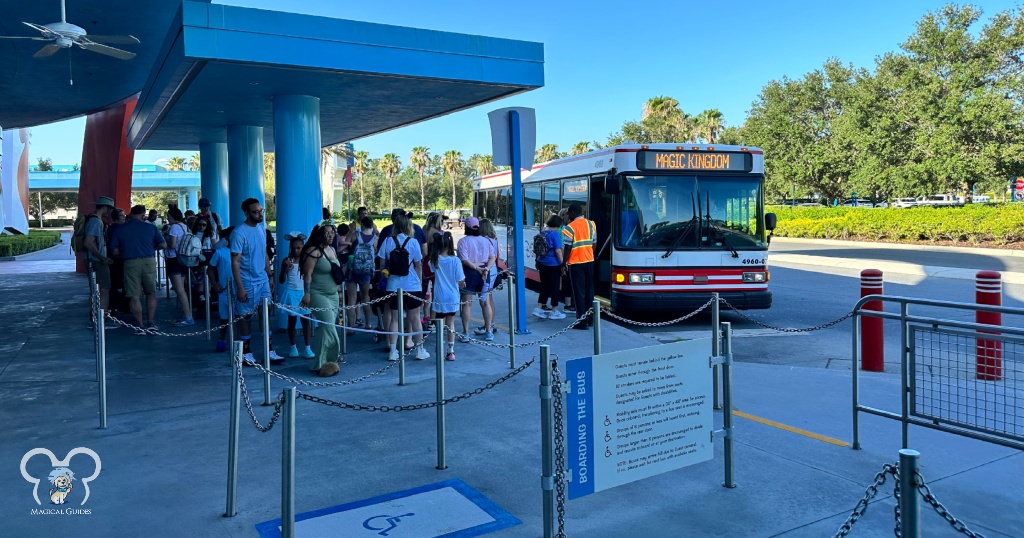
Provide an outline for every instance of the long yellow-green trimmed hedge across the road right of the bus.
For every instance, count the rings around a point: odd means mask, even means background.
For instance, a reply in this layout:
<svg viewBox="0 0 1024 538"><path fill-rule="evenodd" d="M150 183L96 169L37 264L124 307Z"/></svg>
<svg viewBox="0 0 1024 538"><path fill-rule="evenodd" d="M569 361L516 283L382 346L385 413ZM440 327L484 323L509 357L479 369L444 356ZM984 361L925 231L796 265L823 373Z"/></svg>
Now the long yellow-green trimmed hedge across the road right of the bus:
<svg viewBox="0 0 1024 538"><path fill-rule="evenodd" d="M770 207L775 235L894 243L1024 243L1024 204L962 207Z"/></svg>

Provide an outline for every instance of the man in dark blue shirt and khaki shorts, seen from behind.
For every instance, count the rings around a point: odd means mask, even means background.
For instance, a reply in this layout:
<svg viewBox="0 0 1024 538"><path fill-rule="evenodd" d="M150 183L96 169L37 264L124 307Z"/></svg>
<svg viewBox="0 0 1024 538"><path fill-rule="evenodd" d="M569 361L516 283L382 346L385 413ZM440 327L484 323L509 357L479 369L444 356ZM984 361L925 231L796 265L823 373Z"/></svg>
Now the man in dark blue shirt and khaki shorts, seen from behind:
<svg viewBox="0 0 1024 538"><path fill-rule="evenodd" d="M145 206L131 208L128 219L111 235L111 249L125 263L125 296L135 319L136 335L157 330L157 250L167 247L157 226L144 220ZM142 294L150 322L142 324Z"/></svg>

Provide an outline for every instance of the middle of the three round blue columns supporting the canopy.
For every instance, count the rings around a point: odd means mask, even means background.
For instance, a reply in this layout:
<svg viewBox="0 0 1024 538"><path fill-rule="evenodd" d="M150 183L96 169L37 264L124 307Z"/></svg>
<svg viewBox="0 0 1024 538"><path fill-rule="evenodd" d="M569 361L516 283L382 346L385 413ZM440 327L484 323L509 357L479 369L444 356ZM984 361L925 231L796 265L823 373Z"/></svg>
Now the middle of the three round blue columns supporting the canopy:
<svg viewBox="0 0 1024 538"><path fill-rule="evenodd" d="M202 157L201 157L202 159ZM263 128L251 125L227 127L228 211L220 215L229 225L245 221L242 201L255 198L266 207L263 197Z"/></svg>

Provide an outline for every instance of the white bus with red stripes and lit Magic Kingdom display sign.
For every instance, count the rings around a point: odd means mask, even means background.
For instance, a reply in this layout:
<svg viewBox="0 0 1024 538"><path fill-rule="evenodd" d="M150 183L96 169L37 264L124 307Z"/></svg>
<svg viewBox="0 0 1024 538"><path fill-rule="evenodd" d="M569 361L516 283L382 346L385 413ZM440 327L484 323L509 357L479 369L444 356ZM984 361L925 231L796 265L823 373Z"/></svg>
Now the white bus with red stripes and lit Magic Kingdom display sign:
<svg viewBox="0 0 1024 538"><path fill-rule="evenodd" d="M534 236L579 202L597 224L595 296L615 311L677 313L713 292L736 308L768 308L764 153L721 144L624 144L523 171L526 277ZM473 181L473 214L511 237L511 172ZM511 249L505 248L507 259Z"/></svg>

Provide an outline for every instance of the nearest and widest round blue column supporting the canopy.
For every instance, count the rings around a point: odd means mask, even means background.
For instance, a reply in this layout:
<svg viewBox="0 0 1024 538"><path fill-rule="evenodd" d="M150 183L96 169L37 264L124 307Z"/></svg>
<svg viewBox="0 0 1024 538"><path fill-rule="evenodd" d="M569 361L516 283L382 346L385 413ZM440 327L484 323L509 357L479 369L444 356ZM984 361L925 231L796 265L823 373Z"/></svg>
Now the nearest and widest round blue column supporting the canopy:
<svg viewBox="0 0 1024 538"><path fill-rule="evenodd" d="M323 217L321 193L319 98L273 98L274 177L278 197L278 252L286 252L289 232L308 235ZM283 256L278 256L279 261Z"/></svg>

